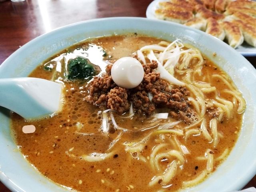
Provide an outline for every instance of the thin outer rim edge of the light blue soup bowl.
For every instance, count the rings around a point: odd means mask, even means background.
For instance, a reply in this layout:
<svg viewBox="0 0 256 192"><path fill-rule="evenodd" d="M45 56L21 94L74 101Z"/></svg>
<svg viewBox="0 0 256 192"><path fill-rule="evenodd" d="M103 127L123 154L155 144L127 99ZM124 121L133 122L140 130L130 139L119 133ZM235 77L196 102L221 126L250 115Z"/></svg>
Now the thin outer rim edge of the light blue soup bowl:
<svg viewBox="0 0 256 192"><path fill-rule="evenodd" d="M75 23L72 23L72 24L69 24L69 25L66 25L66 26L62 26L62 27L59 27L59 28L56 28L50 32L47 32L45 34L42 34L32 40L30 40L29 42L27 42L26 44L24 44L22 47L18 48L18 50L16 50L15 52L13 52L8 58L6 58L6 60L4 60L4 62L0 65L0 72L2 71L3 68L6 68L7 65L8 65L8 61L11 60L12 58L14 58L17 54L20 54L20 52L23 52L24 50L26 50L27 47L29 47L30 45L32 45L34 42L37 42L37 41L40 41L40 40L43 40L45 37L47 36L50 36L58 31L61 31L61 30L65 30L65 29L68 29L72 26L77 26L77 25L80 25L80 24L85 24L85 23L90 23L90 22L104 22L106 20L112 20L112 21L115 21L115 20L141 20L141 21L145 21L145 22L159 22L159 23L162 23L164 25L169 25L169 26L177 26L178 28L181 28L181 29L186 29L186 30L190 30L190 31L193 31L193 32L196 32L197 34L200 34L202 36L207 36L208 39L212 40L212 41L217 41L220 46L223 46L226 50L228 50L229 52L231 52L232 54L236 54L237 57L240 57L240 59L244 60L244 65L246 65L246 67L251 70L253 73L254 73L254 76L256 77L256 69L250 64L250 62L248 62L248 60L246 60L241 54L239 54L238 52L236 52L236 50L234 50L233 48L231 48L230 46L228 46L226 43L218 40L217 38L209 35L209 34L206 34L200 30L196 30L196 29L193 29L193 28L189 28L188 26L184 26L184 25L181 25L181 24L177 24L177 23L172 23L172 22L165 22L165 21L161 21L161 20L155 20L155 19L148 19L148 18L141 18L141 17L109 17L109 18L97 18L97 19L92 19L92 20L86 20L86 21L80 21L80 22L75 22ZM113 29L114 31L114 29ZM254 127L255 128L255 127ZM1 173L1 172L0 172ZM242 175L241 175L241 178L244 178L244 179L239 179L237 180L236 182L233 182L232 183L232 188L234 189L240 189L242 188L246 183L244 182L244 180L249 181L254 175L256 174L256 160L254 160L254 162L248 166L246 172L244 172ZM5 179L4 179L5 178ZM10 190L12 191L23 191L21 190L18 186L16 186L13 182L10 182L9 181L9 178L7 175L2 175L0 174L0 180L3 182L3 184L5 186L7 186ZM20 189L20 190L19 190Z"/></svg>

